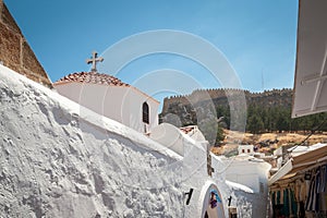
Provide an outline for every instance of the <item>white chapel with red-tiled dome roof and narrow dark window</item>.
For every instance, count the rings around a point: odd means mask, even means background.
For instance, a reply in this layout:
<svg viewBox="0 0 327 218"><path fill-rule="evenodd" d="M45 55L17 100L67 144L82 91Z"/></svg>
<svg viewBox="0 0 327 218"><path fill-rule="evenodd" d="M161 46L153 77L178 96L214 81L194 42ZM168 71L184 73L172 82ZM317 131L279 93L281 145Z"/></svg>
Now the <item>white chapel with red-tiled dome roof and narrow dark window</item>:
<svg viewBox="0 0 327 218"><path fill-rule="evenodd" d="M159 101L114 76L97 72L69 74L53 84L59 94L138 132L158 124Z"/></svg>

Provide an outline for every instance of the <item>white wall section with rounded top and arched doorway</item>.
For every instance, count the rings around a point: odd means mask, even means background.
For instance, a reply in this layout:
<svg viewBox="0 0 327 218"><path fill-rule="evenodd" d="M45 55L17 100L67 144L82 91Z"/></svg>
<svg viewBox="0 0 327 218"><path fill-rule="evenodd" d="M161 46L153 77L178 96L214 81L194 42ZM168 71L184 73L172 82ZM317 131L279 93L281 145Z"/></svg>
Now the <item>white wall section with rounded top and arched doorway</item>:
<svg viewBox="0 0 327 218"><path fill-rule="evenodd" d="M150 138L159 142L164 146L174 150L183 157L182 186L185 192L194 189L190 205L185 205L183 217L203 218L208 209L209 218L227 217L226 196L220 194L221 203L217 208L209 208L209 191L216 190L222 193L221 187L226 190L225 177L219 172L223 168L223 162L218 157L211 158L211 165L217 170L217 177L210 178L207 173L207 142L196 142L186 134L183 134L178 128L161 123L150 134ZM218 175L219 173L219 175Z"/></svg>

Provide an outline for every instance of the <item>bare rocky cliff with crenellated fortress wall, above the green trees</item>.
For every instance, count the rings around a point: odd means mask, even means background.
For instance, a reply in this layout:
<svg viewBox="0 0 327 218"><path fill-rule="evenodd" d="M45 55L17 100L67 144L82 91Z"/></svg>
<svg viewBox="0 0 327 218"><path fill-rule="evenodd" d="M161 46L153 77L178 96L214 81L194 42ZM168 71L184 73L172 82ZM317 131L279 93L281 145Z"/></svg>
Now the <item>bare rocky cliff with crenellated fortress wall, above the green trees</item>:
<svg viewBox="0 0 327 218"><path fill-rule="evenodd" d="M219 113L218 110L221 108L229 111L231 105L233 107L255 106L261 108L278 107L290 109L292 95L292 89L289 88L265 90L263 93L251 93L233 88L197 89L190 95L165 98L160 120L171 122L169 116L167 118L167 114L175 114L180 118L181 125L195 124L198 116L202 116L202 111L206 113L207 108L215 107L213 111ZM245 97L246 105L238 102L240 96ZM213 116L219 117L219 114Z"/></svg>

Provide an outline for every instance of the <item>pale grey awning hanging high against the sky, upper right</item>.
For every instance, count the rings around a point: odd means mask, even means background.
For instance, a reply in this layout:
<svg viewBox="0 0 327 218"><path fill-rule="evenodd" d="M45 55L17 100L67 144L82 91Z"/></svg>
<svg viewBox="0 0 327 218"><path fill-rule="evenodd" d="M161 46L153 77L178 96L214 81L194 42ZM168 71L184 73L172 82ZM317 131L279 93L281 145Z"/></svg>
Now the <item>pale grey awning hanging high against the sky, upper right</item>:
<svg viewBox="0 0 327 218"><path fill-rule="evenodd" d="M292 118L327 111L326 21L326 0L300 0Z"/></svg>

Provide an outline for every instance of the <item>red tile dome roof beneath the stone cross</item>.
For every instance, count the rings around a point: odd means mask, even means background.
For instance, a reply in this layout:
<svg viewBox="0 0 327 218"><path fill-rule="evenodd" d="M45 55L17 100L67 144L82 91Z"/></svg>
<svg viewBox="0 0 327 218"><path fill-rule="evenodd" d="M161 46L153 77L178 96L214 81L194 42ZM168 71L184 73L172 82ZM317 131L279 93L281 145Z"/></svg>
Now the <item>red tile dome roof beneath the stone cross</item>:
<svg viewBox="0 0 327 218"><path fill-rule="evenodd" d="M121 82L121 80L112 75L96 72L71 73L57 81L53 85L70 82L130 87L129 84Z"/></svg>

